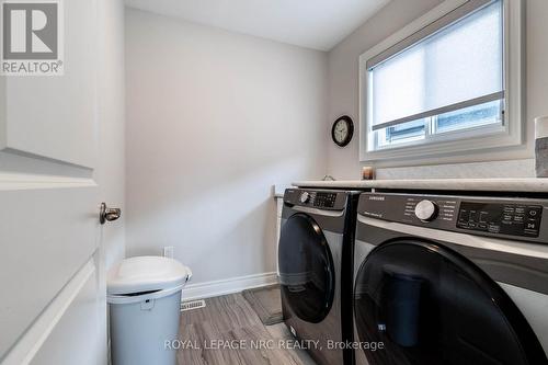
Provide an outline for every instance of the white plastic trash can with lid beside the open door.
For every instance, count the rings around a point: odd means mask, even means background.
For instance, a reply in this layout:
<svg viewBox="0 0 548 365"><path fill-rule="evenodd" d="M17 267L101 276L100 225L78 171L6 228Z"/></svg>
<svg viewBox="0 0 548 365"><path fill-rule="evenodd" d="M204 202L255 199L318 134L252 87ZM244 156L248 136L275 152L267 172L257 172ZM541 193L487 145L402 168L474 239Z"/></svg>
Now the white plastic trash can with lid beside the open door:
<svg viewBox="0 0 548 365"><path fill-rule="evenodd" d="M107 275L113 365L174 365L189 267L161 256L123 260Z"/></svg>

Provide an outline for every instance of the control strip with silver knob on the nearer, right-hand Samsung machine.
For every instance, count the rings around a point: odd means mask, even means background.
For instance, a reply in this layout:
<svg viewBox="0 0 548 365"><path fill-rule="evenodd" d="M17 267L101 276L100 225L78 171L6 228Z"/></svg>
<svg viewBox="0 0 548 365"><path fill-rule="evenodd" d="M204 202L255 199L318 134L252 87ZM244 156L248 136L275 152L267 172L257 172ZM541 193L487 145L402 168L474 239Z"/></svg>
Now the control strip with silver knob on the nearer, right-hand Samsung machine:
<svg viewBox="0 0 548 365"><path fill-rule="evenodd" d="M548 199L364 193L357 210L413 226L548 243L545 208Z"/></svg>

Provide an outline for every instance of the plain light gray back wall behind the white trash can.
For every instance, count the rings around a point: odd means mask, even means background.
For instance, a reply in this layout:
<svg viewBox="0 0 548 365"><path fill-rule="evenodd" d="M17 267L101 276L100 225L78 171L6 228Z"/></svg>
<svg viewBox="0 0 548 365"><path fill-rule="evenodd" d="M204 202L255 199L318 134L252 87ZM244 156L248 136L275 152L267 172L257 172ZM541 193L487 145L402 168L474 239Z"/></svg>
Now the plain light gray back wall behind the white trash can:
<svg viewBox="0 0 548 365"><path fill-rule="evenodd" d="M275 271L271 187L324 175L327 90L324 53L127 9L128 256Z"/></svg>

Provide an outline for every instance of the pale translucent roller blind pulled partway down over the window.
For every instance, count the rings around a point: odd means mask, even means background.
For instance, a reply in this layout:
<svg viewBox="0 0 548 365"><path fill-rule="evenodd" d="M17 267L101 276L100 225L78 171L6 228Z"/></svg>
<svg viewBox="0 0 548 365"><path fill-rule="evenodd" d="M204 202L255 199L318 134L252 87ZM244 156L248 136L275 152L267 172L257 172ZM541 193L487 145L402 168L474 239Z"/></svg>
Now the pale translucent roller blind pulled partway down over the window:
<svg viewBox="0 0 548 365"><path fill-rule="evenodd" d="M373 124L502 91L502 2L370 70Z"/></svg>

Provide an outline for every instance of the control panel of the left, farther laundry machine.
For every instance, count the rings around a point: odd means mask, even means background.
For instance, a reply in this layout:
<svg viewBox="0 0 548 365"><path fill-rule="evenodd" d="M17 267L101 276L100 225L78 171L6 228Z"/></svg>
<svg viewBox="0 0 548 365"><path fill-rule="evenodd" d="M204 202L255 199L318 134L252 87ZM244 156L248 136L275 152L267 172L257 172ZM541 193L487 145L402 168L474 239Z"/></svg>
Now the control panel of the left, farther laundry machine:
<svg viewBox="0 0 548 365"><path fill-rule="evenodd" d="M285 192L284 202L290 205L307 206L318 209L342 210L346 204L346 193L288 189Z"/></svg>

